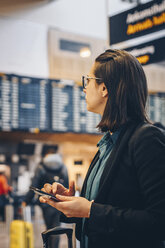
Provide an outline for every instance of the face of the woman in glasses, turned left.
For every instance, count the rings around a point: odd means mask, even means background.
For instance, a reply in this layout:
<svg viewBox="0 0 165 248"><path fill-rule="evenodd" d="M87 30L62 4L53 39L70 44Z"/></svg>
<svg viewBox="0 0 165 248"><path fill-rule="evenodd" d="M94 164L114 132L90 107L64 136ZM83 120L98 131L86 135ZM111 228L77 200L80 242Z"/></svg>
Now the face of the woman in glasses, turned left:
<svg viewBox="0 0 165 248"><path fill-rule="evenodd" d="M95 66L96 64L94 63L89 75L87 75L88 77L95 78ZM87 110L102 115L108 99L108 92L104 83L97 84L96 79L88 79L88 85L84 92L86 94Z"/></svg>

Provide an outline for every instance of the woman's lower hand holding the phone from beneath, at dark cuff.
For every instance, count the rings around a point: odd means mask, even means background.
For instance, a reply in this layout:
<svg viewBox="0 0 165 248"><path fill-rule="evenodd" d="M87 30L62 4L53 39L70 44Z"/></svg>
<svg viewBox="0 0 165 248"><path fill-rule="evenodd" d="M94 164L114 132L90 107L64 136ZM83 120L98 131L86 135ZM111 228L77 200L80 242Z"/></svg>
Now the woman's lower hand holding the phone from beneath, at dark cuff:
<svg viewBox="0 0 165 248"><path fill-rule="evenodd" d="M83 197L56 195L60 202L55 202L44 196L40 197L42 203L63 212L67 217L89 218L90 209L93 201L88 201Z"/></svg>

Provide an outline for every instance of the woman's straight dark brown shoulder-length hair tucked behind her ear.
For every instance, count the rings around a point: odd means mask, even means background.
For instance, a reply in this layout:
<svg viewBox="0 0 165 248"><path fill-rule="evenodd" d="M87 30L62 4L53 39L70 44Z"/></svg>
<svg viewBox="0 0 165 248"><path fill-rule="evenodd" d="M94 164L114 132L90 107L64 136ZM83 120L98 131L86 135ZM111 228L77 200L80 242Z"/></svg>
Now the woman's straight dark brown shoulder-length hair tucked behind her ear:
<svg viewBox="0 0 165 248"><path fill-rule="evenodd" d="M148 121L147 81L139 61L126 51L109 49L95 59L95 65L95 77L101 78L108 90L99 130L114 132L129 120Z"/></svg>

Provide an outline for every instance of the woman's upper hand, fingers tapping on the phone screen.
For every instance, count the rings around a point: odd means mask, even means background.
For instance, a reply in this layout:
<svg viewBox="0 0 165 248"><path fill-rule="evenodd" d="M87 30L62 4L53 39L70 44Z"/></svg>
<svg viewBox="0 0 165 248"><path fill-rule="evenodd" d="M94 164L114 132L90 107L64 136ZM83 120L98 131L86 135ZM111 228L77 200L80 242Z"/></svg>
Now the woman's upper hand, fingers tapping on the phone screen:
<svg viewBox="0 0 165 248"><path fill-rule="evenodd" d="M53 183L52 185L49 183L44 184L44 188L41 189L49 194L59 194L64 196L74 196L75 195L75 184L74 181L69 183L69 189L65 188L60 183Z"/></svg>

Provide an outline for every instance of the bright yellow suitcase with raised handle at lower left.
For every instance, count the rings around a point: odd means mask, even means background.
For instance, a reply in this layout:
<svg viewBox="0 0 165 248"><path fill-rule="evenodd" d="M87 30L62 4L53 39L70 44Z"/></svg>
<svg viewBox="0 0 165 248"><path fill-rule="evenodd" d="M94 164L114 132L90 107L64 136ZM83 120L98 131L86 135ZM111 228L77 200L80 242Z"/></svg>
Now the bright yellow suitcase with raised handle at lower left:
<svg viewBox="0 0 165 248"><path fill-rule="evenodd" d="M29 210L26 208L23 209L24 220L13 220L10 224L10 248L34 248L33 225L25 221L25 212Z"/></svg>

